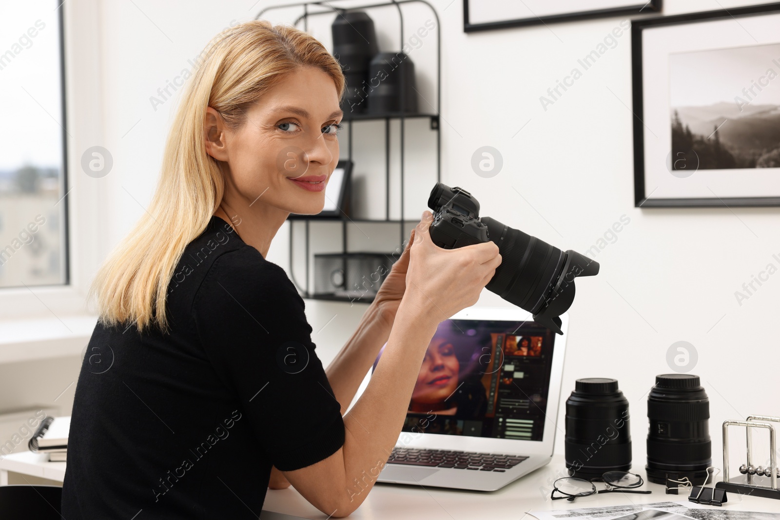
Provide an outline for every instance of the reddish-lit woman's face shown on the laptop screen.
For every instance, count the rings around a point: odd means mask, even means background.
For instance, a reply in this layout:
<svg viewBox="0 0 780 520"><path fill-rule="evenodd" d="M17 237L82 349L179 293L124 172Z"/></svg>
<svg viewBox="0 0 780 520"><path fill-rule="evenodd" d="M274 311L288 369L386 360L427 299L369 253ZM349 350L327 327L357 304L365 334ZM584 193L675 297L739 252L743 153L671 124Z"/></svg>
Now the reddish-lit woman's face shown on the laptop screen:
<svg viewBox="0 0 780 520"><path fill-rule="evenodd" d="M460 363L452 344L444 338L434 338L425 352L412 400L417 403L444 401L458 387L459 370Z"/></svg>

